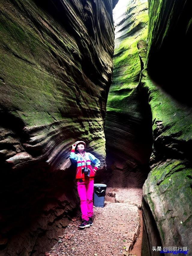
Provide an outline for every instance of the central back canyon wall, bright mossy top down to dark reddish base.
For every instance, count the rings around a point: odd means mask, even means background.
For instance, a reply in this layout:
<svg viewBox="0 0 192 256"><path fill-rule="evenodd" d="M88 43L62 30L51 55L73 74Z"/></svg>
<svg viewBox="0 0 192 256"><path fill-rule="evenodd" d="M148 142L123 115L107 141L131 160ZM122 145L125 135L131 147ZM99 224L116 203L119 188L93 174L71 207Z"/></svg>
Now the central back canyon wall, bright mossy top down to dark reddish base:
<svg viewBox="0 0 192 256"><path fill-rule="evenodd" d="M149 172L152 124L149 105L138 87L143 63L137 45L147 37L148 2L119 0L113 17L115 50L105 124L105 182L142 187Z"/></svg>

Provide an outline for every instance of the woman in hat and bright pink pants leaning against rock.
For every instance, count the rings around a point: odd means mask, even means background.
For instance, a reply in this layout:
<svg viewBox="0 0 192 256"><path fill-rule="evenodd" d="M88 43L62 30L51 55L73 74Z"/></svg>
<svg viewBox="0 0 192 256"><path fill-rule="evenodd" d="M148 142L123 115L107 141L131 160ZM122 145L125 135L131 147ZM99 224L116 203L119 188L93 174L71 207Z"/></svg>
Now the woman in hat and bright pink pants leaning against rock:
<svg viewBox="0 0 192 256"><path fill-rule="evenodd" d="M94 176L101 164L98 158L91 153L85 152L85 147L84 141L76 141L72 145L70 153L71 161L76 164L77 191L82 212L82 223L79 225L79 228L93 225ZM92 168L91 164L94 164L95 167Z"/></svg>

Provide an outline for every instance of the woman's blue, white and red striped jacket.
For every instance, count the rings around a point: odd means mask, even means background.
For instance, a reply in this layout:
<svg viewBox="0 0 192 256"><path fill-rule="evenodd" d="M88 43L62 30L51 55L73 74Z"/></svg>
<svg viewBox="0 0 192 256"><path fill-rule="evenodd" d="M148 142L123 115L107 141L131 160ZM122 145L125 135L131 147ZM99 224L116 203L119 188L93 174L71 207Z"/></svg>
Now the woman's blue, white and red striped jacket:
<svg viewBox="0 0 192 256"><path fill-rule="evenodd" d="M93 167L91 164L95 164L94 169L98 170L100 167L101 162L99 161L98 158L96 158L94 155L88 152L84 152L85 155L85 161L87 162L87 168L90 169L90 176L89 179L94 179L95 176L95 171L93 170ZM75 154L75 149L71 150L69 158L71 159L73 164L76 164L76 179L82 179L85 181L85 175L82 173L82 168L86 166L85 161L81 157L80 154Z"/></svg>

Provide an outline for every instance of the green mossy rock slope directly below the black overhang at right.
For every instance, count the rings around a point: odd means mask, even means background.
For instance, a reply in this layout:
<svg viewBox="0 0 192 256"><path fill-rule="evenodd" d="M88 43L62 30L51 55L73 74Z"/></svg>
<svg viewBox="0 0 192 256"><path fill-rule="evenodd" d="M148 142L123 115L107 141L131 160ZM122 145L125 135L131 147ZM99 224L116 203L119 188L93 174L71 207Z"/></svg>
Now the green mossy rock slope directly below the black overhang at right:
<svg viewBox="0 0 192 256"><path fill-rule="evenodd" d="M179 104L170 95L150 79L143 71L142 87L148 91L149 105L152 110L153 131L158 129L158 123L164 127L161 136L177 137L178 140L192 139L191 110Z"/></svg>

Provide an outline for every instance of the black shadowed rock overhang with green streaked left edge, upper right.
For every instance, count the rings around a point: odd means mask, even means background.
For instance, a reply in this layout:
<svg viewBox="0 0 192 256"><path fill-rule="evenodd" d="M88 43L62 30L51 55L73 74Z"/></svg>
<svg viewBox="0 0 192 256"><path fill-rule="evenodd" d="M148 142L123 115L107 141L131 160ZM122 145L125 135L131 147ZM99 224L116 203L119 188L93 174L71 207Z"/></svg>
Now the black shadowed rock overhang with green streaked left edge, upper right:
<svg viewBox="0 0 192 256"><path fill-rule="evenodd" d="M149 2L149 75L177 101L191 107L191 97L186 93L191 80L191 52L185 50L192 28L191 3L163 1L164 11L160 11L162 7Z"/></svg>

